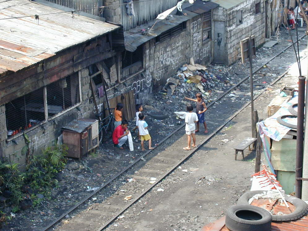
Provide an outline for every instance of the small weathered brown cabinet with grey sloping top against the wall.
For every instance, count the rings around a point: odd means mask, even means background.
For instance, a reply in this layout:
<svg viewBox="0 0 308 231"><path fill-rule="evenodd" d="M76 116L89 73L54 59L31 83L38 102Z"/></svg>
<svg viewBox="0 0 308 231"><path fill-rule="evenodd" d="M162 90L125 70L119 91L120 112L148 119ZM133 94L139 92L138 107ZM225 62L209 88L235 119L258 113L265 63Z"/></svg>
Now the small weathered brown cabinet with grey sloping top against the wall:
<svg viewBox="0 0 308 231"><path fill-rule="evenodd" d="M73 120L62 128L63 144L67 145L67 156L80 159L98 147L98 120Z"/></svg>

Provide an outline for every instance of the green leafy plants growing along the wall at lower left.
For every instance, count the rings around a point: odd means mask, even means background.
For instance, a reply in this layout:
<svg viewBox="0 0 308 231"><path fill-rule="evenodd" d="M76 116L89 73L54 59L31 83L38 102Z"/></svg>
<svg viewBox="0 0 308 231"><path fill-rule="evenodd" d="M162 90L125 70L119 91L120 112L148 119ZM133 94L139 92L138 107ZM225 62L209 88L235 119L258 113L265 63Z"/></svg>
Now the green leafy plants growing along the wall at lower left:
<svg viewBox="0 0 308 231"><path fill-rule="evenodd" d="M19 171L18 163L0 161L0 195L8 198L11 212L18 212L22 201L30 201L32 207L40 204L42 199L37 198L37 193L50 199L50 188L57 186L56 176L65 167L66 155L67 147L54 143L42 150L41 155L31 156L25 172ZM10 216L0 211L0 227L8 219Z"/></svg>

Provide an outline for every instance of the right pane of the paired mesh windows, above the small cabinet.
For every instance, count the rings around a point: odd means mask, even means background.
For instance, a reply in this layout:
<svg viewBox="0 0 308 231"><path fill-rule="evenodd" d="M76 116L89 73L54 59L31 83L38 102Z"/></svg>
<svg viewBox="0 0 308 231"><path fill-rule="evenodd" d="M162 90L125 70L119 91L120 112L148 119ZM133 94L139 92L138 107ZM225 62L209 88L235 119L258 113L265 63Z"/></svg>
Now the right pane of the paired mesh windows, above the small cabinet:
<svg viewBox="0 0 308 231"><path fill-rule="evenodd" d="M74 74L46 86L48 116L80 102L78 75Z"/></svg>

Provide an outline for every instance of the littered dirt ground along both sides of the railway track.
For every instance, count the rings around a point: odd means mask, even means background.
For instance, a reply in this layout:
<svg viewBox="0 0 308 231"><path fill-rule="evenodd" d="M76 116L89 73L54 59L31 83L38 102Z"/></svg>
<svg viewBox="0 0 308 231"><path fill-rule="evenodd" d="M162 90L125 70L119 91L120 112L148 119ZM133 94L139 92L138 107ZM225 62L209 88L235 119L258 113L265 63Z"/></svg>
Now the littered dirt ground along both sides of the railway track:
<svg viewBox="0 0 308 231"><path fill-rule="evenodd" d="M294 35L294 31L292 33ZM268 56L272 56L273 53L287 46L290 43L288 40L288 33L284 32L281 34L280 43L276 45L276 48L259 49L257 58L254 60L254 66L264 63ZM300 50L303 50L301 56L306 56L306 47L307 40L305 37L300 43ZM265 70L257 73L255 82L260 83L265 80L271 82L287 68L295 71L291 73L292 76L298 76L296 68L294 68L296 65L293 65L294 61L295 57L292 51L284 53L281 58L269 63ZM302 63L303 69L306 69L307 65L305 65L305 63ZM235 63L232 67L210 66L209 72L217 76L222 74L230 83L228 86L223 81L217 82L215 88L208 91L207 103L217 98L223 90L228 89L232 84L231 82L236 83L243 76L246 76L249 70L247 64ZM266 118L265 108L277 94L274 91L275 89L279 89L280 86L285 84L297 83L297 79L292 76L284 77L275 87L265 91L256 100L255 109L258 110L259 118ZM241 105L249 101L248 90L249 82L232 92L238 97L230 96L227 101L217 102L206 112L206 121L210 133L234 111L237 111ZM255 88L255 92L259 90ZM186 102L182 102L183 96L193 97L197 92L198 89L193 85L182 83L176 88L172 98L167 98L163 92L158 92L154 95L153 100L144 105L145 114L153 107L170 114L170 117L163 121L155 120L150 116L147 117L146 121L151 129L150 134L153 143L162 140L163 137L179 126L173 112L184 111L184 103ZM238 197L249 190L250 187L250 175L254 173L254 152L249 152L246 149L245 161L241 161L241 155L238 155L238 160L235 161L233 149L245 137L251 136L250 124L250 107L247 107L202 146L193 157L181 165L181 169L177 169L155 186L152 192L123 214L124 218L115 221L107 230L200 230L200 227L204 224L223 216L225 210L235 204ZM134 121L130 122L130 128L132 127L134 127ZM201 132L203 132L203 129L201 129ZM163 152L172 145L178 146L180 151L183 143L186 142L186 136L183 136L183 134L184 129L181 129L176 136L155 149L152 155ZM204 137L204 134L199 133L197 140L200 141ZM134 152L129 152L127 148L124 150L116 149L109 141L103 144L97 152L84 157L81 162L69 159L63 172L63 179L59 179L59 187L50 192L51 199L43 200L41 205L34 209L16 213L15 218L9 221L3 230L41 230L91 193L91 190L95 187L108 181L117 172L142 155L141 150L138 149L140 143L137 142L136 137L134 138ZM182 169L189 171L183 172ZM131 187L133 188L134 185ZM163 188L164 191L158 192L158 188ZM114 193L116 193L116 190L107 188L102 192L105 196L98 197L95 203L101 203ZM94 202L85 204L79 210L70 214L64 221L73 224L77 214L86 212L86 208L92 204ZM7 207L6 210L9 214L10 208ZM78 230L78 227L71 228L68 230ZM61 225L56 229L63 230Z"/></svg>

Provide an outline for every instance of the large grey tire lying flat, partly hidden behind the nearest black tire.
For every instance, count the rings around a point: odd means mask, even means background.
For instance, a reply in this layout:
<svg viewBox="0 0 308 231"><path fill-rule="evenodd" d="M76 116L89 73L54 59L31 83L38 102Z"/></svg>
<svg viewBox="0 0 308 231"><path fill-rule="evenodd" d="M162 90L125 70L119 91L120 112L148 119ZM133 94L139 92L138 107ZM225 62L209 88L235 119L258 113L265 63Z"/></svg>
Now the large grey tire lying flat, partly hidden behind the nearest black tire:
<svg viewBox="0 0 308 231"><path fill-rule="evenodd" d="M238 203L239 205L247 205L249 198L252 198L255 194L261 194L263 193L264 190L257 190L257 191L249 191L244 193L239 199ZM287 195L287 194L282 194L285 198L285 200L295 206L295 211L286 214L286 215L271 215L272 220L274 221L290 221L290 220L297 220L307 214L308 212L308 206L306 202L303 200Z"/></svg>

